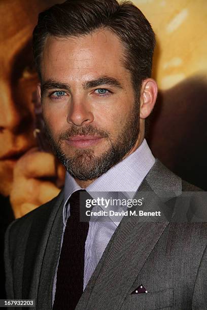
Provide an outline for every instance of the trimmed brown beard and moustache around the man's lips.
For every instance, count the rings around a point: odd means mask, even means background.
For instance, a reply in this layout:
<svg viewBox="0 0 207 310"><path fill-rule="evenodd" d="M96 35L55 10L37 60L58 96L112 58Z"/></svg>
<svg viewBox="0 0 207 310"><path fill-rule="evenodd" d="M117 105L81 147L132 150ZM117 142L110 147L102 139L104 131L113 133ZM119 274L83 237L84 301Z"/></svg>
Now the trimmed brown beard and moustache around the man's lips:
<svg viewBox="0 0 207 310"><path fill-rule="evenodd" d="M119 163L136 143L140 131L139 108L139 102L135 101L129 118L115 141L111 139L110 132L100 130L91 124L81 128L73 125L71 129L61 133L55 141L51 129L45 123L46 135L55 155L68 173L76 179L92 180ZM95 156L92 149L75 150L74 154L69 156L62 150L62 142L79 135L98 135L105 138L108 140L109 148L99 156Z"/></svg>

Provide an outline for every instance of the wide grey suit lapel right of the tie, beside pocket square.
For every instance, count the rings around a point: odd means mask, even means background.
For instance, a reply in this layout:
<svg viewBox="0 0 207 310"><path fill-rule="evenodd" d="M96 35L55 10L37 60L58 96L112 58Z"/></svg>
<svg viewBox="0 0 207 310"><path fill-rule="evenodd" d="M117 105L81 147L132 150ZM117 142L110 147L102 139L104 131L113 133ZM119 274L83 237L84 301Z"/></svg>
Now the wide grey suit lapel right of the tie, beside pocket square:
<svg viewBox="0 0 207 310"><path fill-rule="evenodd" d="M142 196L145 193L143 209L162 212L162 219L159 222L157 218L155 221L143 221L139 216L122 219L76 307L77 310L94 309L97 306L99 310L121 307L169 223L168 216L173 211L171 202L181 193L180 178L174 177L157 161L137 191L137 199L140 198L140 193Z"/></svg>

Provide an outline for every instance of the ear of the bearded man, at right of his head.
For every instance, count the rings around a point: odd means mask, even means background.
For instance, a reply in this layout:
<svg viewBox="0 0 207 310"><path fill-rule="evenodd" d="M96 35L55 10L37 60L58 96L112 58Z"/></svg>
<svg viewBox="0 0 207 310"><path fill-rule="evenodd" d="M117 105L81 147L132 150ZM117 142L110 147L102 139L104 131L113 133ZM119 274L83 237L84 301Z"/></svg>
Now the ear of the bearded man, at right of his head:
<svg viewBox="0 0 207 310"><path fill-rule="evenodd" d="M142 83L140 95L140 118L146 119L152 112L157 99L157 83L153 79L146 79Z"/></svg>

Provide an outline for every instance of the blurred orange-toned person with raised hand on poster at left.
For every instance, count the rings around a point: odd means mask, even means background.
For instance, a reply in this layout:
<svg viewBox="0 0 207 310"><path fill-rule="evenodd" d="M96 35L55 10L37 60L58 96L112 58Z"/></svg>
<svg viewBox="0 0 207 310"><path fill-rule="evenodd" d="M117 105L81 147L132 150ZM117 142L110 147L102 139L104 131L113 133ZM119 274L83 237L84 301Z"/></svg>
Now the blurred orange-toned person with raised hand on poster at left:
<svg viewBox="0 0 207 310"><path fill-rule="evenodd" d="M31 33L38 13L51 4L51 0L36 0L32 3L27 0L2 0L0 3L1 298L6 295L3 254L7 226L14 218L23 216L49 201L60 191L49 179L47 184L43 179L40 180L42 176L56 176L57 163L52 154L41 152L39 156L37 149L33 149L29 154L33 162L33 171L27 169L26 164L27 151L37 146L33 135L35 118L32 93L36 91L38 76L32 59ZM28 168L31 168L30 164ZM40 196L38 192L41 188L43 194Z"/></svg>

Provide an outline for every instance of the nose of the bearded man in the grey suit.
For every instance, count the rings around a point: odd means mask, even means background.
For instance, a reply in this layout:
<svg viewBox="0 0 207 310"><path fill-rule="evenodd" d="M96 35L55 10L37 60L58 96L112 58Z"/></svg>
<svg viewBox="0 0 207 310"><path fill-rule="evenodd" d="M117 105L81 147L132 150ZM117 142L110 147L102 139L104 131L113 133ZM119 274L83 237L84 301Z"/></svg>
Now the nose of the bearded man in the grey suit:
<svg viewBox="0 0 207 310"><path fill-rule="evenodd" d="M93 120L94 115L89 101L80 95L73 96L67 114L67 122L80 127L92 123Z"/></svg>

